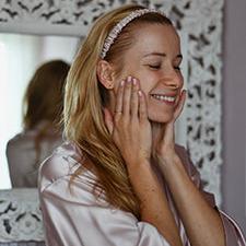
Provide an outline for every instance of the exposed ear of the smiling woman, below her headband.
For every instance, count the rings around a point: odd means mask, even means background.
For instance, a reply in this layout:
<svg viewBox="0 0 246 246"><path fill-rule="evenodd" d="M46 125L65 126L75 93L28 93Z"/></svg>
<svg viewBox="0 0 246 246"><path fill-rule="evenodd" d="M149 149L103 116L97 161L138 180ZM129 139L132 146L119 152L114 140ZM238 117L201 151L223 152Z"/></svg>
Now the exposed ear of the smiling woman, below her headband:
<svg viewBox="0 0 246 246"><path fill-rule="evenodd" d="M96 68L96 74L99 82L106 89L109 90L114 87L114 69L109 62L106 60L99 60Z"/></svg>

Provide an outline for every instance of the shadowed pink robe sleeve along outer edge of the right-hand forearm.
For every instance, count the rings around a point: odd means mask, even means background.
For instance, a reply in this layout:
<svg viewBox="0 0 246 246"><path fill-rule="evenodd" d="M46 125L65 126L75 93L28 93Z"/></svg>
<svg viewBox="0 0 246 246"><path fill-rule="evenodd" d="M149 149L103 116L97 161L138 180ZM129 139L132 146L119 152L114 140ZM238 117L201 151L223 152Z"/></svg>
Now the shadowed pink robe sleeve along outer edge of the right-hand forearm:
<svg viewBox="0 0 246 246"><path fill-rule="evenodd" d="M206 200L214 208L218 210L223 227L224 227L224 233L225 233L225 242L226 246L246 246L245 237L242 233L242 230L237 225L237 223L230 218L225 212L220 210L214 200L214 196L210 192L207 192L203 190L203 186L201 183L200 174L197 171L197 168L194 166L191 160L189 159L188 154L186 153L187 151L185 148L179 148L179 153L180 157L183 160L184 165L186 166L186 169L195 183L195 185L200 189L200 191L203 194Z"/></svg>

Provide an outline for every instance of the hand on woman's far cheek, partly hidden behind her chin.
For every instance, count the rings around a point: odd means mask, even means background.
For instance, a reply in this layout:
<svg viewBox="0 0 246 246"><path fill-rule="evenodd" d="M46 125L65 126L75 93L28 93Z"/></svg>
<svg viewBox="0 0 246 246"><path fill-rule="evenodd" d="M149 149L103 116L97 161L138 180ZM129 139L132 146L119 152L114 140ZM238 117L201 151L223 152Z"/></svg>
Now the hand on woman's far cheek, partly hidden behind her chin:
<svg viewBox="0 0 246 246"><path fill-rule="evenodd" d="M154 144L154 159L157 160L157 162L167 161L171 157L175 156L175 121L178 118L178 116L181 114L181 110L184 108L186 101L186 91L183 90L179 99L177 103L177 106L174 112L174 117L172 120L165 124L165 126L162 129L161 136L157 139L156 143Z"/></svg>

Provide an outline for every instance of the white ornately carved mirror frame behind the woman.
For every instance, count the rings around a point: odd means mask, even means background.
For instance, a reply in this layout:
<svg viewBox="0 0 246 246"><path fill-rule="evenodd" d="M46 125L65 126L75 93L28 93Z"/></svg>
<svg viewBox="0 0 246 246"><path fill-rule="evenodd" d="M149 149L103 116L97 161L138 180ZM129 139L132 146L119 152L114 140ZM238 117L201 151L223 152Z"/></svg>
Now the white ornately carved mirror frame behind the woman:
<svg viewBox="0 0 246 246"><path fill-rule="evenodd" d="M1 0L0 31L84 36L102 13L132 2L161 9L177 30L188 35L187 148L206 189L215 195L220 204L223 0ZM15 195L16 191L0 192L0 242L42 241L37 191L25 189ZM36 200L30 204L33 196ZM22 214L22 226L27 226L24 231L16 231L19 225L13 224L16 211L16 211L27 211ZM34 231L30 224L36 226Z"/></svg>

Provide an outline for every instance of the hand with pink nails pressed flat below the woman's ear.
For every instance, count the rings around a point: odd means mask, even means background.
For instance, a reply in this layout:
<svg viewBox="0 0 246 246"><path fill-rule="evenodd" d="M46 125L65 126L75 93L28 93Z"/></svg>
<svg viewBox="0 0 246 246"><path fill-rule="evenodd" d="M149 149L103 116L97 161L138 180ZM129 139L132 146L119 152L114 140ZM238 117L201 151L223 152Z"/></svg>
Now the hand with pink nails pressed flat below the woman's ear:
<svg viewBox="0 0 246 246"><path fill-rule="evenodd" d="M128 77L118 86L114 116L104 109L105 124L121 152L126 165L150 161L151 125L148 119L145 95L139 81Z"/></svg>

